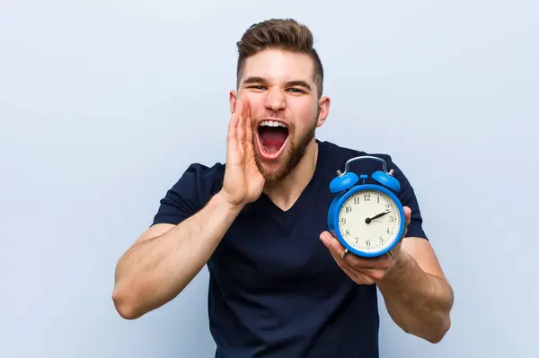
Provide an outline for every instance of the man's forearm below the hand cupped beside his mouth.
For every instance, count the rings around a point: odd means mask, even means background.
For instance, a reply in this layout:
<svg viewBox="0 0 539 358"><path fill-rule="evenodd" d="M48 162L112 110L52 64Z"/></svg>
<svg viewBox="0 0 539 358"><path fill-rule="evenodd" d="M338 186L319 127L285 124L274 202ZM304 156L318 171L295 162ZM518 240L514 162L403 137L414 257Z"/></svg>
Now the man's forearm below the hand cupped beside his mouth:
<svg viewBox="0 0 539 358"><path fill-rule="evenodd" d="M129 249L116 269L113 295L120 314L136 319L181 293L206 265L240 210L216 194L199 213Z"/></svg>

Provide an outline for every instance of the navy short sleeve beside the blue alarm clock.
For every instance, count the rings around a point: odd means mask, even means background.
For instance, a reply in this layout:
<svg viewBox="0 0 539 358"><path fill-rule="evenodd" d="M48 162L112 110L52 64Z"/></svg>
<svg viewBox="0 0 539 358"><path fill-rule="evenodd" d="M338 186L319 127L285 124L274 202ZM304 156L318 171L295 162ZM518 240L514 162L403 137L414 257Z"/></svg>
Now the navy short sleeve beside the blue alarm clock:
<svg viewBox="0 0 539 358"><path fill-rule="evenodd" d="M408 225L408 231L406 237L418 237L429 240L427 234L423 230L423 218L421 216L420 204L415 192L411 186L410 181L402 170L392 161L391 156L386 155L387 170L393 169L393 177L401 183L401 190L397 194L397 197L401 201L403 206L408 206L411 209L411 220Z"/></svg>

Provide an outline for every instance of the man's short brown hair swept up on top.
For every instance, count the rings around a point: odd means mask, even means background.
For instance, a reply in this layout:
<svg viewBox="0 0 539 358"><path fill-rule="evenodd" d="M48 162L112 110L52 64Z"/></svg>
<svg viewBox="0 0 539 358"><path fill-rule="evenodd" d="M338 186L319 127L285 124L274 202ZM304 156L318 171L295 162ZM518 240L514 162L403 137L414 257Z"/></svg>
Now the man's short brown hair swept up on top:
<svg viewBox="0 0 539 358"><path fill-rule="evenodd" d="M270 19L253 24L237 42L238 63L236 76L239 81L245 59L266 48L280 48L307 54L314 61L314 83L318 97L323 93L323 65L314 49L313 33L293 19Z"/></svg>

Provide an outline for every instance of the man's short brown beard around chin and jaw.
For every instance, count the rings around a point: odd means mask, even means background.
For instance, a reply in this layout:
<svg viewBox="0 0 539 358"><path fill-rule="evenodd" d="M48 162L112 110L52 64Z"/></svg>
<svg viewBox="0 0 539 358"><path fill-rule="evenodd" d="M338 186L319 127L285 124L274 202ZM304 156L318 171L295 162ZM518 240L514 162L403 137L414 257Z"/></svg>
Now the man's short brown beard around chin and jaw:
<svg viewBox="0 0 539 358"><path fill-rule="evenodd" d="M318 118L318 117L316 117ZM292 170L296 168L296 165L302 160L305 156L305 151L307 145L314 138L314 132L316 130L316 120L314 120L314 125L309 128L309 130L298 139L293 139L294 133L289 133L290 143L288 148L280 155L278 168L276 169L273 165L271 167L265 166L261 161L261 155L258 153L258 149L255 151L254 159L256 166L260 170L262 177L266 180L266 183L275 184L285 179ZM253 143L255 141L253 133Z"/></svg>

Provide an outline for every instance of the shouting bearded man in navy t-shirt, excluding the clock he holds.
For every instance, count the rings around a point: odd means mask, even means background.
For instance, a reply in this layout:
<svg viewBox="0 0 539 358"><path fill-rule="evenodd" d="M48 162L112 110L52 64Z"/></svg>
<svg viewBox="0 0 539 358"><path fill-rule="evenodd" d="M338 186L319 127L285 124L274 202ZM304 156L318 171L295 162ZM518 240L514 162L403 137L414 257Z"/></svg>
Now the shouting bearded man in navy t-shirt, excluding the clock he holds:
<svg viewBox="0 0 539 358"><path fill-rule="evenodd" d="M330 100L311 32L292 20L261 22L238 49L226 162L194 163L168 190L153 225L119 260L119 314L155 310L208 265L217 357L378 357L376 287L397 325L438 342L452 289L389 155L379 156L401 181L408 224L392 255L343 258L327 231L329 183L365 153L315 139ZM354 171L377 169L360 161Z"/></svg>

